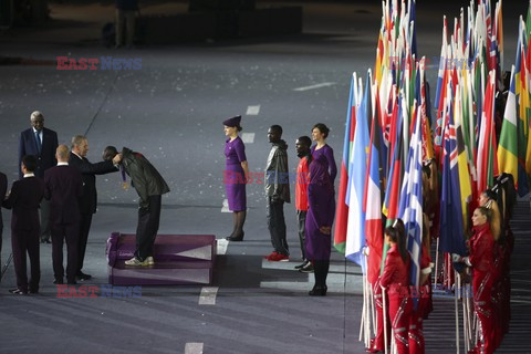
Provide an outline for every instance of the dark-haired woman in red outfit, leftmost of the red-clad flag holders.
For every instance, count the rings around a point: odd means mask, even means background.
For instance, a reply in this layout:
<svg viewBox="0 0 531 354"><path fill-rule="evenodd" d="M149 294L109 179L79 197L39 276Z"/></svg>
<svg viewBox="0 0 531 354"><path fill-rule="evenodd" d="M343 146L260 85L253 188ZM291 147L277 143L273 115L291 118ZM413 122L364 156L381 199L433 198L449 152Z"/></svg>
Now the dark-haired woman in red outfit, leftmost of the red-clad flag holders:
<svg viewBox="0 0 531 354"><path fill-rule="evenodd" d="M408 292L407 270L409 253L406 249L406 237L403 228L387 227L384 231L389 250L385 258L385 268L381 285L386 288L389 296L389 319L394 331L394 340L398 354L407 354L408 327L412 302Z"/></svg>

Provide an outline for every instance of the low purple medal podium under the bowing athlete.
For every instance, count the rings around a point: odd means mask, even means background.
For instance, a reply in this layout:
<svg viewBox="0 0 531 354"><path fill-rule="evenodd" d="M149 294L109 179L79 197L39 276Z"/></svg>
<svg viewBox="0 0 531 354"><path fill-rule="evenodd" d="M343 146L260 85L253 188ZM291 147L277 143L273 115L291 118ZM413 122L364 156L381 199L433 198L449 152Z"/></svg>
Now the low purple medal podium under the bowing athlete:
<svg viewBox="0 0 531 354"><path fill-rule="evenodd" d="M157 235L155 266L129 267L136 249L133 233L113 232L105 250L113 285L210 284L216 260L214 235Z"/></svg>

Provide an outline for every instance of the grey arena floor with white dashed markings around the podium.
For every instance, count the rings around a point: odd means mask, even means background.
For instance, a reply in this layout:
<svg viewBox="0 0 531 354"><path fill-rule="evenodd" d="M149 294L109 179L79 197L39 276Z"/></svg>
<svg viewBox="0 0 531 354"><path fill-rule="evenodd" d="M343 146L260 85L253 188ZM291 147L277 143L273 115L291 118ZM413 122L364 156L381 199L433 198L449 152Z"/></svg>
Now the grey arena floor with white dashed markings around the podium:
<svg viewBox="0 0 531 354"><path fill-rule="evenodd" d="M504 3L506 67L514 60L517 15L527 3ZM465 1L465 3L467 3ZM439 55L442 13L458 15L458 1L418 4L418 49ZM512 7L509 8L509 7ZM147 3L144 12L181 11L184 3ZM304 32L284 38L209 41L115 51L98 44L112 4L52 4L52 25L0 35L0 56L35 59L37 64L0 65L0 170L17 178L19 133L40 110L61 143L75 134L90 140L88 158L106 145L145 154L171 192L164 197L160 233L230 232L221 212L225 136L221 122L242 114L251 171L262 171L271 124L284 127L290 167L294 140L317 122L332 132L329 144L340 163L348 85L353 71L374 65L379 4L304 6ZM140 58L138 71L58 71L56 56ZM46 65L46 61L52 64ZM436 69L428 71L435 84ZM312 88L313 85L317 85ZM252 143L251 143L252 142ZM137 196L121 188L118 174L97 178L100 208L93 219L85 272L91 285L107 283L105 240L112 231L133 232ZM41 294L12 296L12 266L0 284L0 353L362 353L358 342L362 296L360 268L333 254L331 294L306 295L312 275L292 270L300 251L295 214L285 206L289 263L270 264L261 185L248 187L246 241L229 243L219 256L212 287L215 304L200 304L201 287L144 287L134 299L58 299L52 284L51 247L41 246ZM9 212L2 263L10 253ZM500 352L530 352L531 301L529 206L516 216L513 321ZM452 302L437 300L426 322L427 353L455 352Z"/></svg>

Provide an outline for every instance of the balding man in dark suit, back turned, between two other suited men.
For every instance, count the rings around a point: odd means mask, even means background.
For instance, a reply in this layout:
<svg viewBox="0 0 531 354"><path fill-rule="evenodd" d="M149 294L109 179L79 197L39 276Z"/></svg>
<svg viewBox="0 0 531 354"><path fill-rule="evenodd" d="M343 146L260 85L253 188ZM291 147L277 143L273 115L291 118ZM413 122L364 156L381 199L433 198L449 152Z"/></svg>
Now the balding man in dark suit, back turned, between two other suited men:
<svg viewBox="0 0 531 354"><path fill-rule="evenodd" d="M50 200L50 228L52 231L52 261L54 284L63 283L63 240L66 240L66 281L75 284L77 271L77 238L80 232L79 198L83 194L80 171L69 166L69 147L59 145L55 153L58 166L44 173L44 198Z"/></svg>

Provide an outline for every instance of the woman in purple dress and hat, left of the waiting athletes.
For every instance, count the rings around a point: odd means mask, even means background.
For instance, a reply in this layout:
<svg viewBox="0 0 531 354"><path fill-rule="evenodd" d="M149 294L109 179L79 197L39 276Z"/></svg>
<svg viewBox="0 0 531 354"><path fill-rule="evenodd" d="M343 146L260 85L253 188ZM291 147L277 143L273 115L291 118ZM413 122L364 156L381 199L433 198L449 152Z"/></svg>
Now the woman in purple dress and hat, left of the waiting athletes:
<svg viewBox="0 0 531 354"><path fill-rule="evenodd" d="M240 121L241 116L238 115L223 122L225 135L228 137L225 143L223 183L229 209L235 217L235 228L232 233L227 237L229 241L243 240L243 223L247 214L246 180L249 167L247 165L246 146L238 136L238 133L241 132Z"/></svg>

